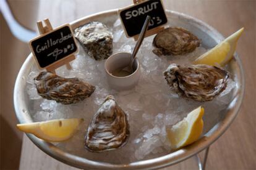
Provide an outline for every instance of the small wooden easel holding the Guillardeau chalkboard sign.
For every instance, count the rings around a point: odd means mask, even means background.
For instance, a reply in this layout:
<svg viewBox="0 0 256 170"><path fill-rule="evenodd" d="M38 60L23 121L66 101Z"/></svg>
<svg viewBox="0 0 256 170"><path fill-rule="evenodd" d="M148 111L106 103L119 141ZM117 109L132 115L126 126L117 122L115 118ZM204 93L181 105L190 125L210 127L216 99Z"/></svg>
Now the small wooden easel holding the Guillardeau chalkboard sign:
<svg viewBox="0 0 256 170"><path fill-rule="evenodd" d="M49 19L46 18L45 20L43 20L45 22L45 26L43 26L43 23L41 21L36 22L36 25L38 27L39 33L41 35L48 33L49 31L53 30L53 26L51 26L51 23L49 22ZM61 67L62 65L66 65L68 70L71 70L72 67L70 65L69 62L71 62L72 60L75 59L75 55L70 55L70 57L67 57L64 60L61 60L59 62L54 63L53 65L50 65L49 67L46 67L47 71L50 71L52 73L56 73L55 70L59 67Z"/></svg>

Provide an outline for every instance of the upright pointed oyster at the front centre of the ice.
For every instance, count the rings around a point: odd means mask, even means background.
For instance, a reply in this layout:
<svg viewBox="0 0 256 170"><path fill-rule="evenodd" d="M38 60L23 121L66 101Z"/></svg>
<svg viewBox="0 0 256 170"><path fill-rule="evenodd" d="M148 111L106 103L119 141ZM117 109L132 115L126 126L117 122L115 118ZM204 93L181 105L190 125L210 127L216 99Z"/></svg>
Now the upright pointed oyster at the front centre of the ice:
<svg viewBox="0 0 256 170"><path fill-rule="evenodd" d="M85 148L91 152L113 150L126 144L129 124L124 111L109 95L93 116L85 136Z"/></svg>

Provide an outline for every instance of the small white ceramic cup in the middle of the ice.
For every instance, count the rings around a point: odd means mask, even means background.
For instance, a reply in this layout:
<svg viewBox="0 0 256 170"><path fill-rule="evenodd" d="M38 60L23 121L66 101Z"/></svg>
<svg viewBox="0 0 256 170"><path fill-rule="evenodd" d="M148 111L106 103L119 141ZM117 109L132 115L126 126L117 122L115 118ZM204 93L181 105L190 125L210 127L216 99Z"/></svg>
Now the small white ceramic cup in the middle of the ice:
<svg viewBox="0 0 256 170"><path fill-rule="evenodd" d="M116 90L127 90L134 87L140 79L140 62L137 58L134 60L134 73L129 76L117 77L112 75L114 70L118 70L129 65L132 54L128 52L119 52L111 55L105 62L105 71L109 86Z"/></svg>

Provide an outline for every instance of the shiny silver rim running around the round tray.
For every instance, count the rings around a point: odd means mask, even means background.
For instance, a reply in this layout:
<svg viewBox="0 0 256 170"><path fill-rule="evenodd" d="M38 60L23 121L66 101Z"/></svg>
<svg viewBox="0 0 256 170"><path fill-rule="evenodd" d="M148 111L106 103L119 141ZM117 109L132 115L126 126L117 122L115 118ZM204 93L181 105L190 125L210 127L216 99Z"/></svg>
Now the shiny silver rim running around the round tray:
<svg viewBox="0 0 256 170"><path fill-rule="evenodd" d="M88 15L86 17L80 18L79 20L75 20L74 22L70 22L70 26L72 29L77 28L77 26L86 23L87 22L86 20L89 18L90 20L93 20L93 18L98 18L100 16L117 14L117 10L118 9L106 10L103 12L98 12L96 14ZM193 22L195 22L200 26L203 26L203 28L205 28L207 31L214 33L215 36L218 37L219 39L224 39L224 37L220 33L218 33L218 31L216 31L215 28L208 25L207 23L202 22L201 20L198 20L197 18L191 17L186 14L182 14L180 12L174 12L173 10L166 10L166 14L167 15L174 14L174 15L177 15L178 17L181 16L186 18L188 21L193 20ZM190 156L194 156L198 152L201 152L203 149L213 144L213 142L215 142L226 131L226 129L228 129L230 124L236 118L237 113L239 112L239 108L241 107L242 99L244 97L245 78L244 78L244 70L242 68L242 62L241 62L241 59L239 59L239 56L237 54L234 54L234 60L236 60L239 66L238 68L239 75L237 76L239 76L238 79L240 79L241 81L241 84L239 84L241 88L236 93L236 96L234 97L232 102L229 104L228 111L226 113L225 118L222 119L220 123L216 124L209 132L207 132L207 134L205 134L205 136L197 140L197 142L195 142L194 144L189 145L188 147L184 147L180 150L177 150L176 152L169 153L168 155L160 156L158 158L153 158L150 160L135 161L129 164L103 163L98 161L87 160L86 158L82 158L79 156L75 156L71 153L64 152L58 147L55 147L53 144L45 142L41 139L38 139L32 134L27 134L27 136L43 152L52 156L56 160L61 161L62 163L69 164L76 168L153 169L153 168L164 168L166 166L171 166L173 164L179 163L180 161L186 160L187 158L190 158ZM14 108L15 108L16 116L19 119L20 123L32 122L30 115L27 113L27 107L25 106L24 95L22 95L23 94L22 89L25 87L25 83L26 83L23 75L25 75L25 73L30 70L30 69L27 69L27 67L31 68L32 65L30 63L32 62L34 62L33 56L32 56L32 53L30 53L27 59L25 60L25 62L23 63L22 68L20 68L20 71L14 86Z"/></svg>

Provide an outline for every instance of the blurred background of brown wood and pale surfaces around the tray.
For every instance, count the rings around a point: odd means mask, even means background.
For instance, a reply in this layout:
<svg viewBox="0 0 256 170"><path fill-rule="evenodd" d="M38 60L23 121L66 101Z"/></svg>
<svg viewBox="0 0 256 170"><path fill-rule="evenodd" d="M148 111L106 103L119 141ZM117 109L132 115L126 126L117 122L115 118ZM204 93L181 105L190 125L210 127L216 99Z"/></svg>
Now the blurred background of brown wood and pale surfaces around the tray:
<svg viewBox="0 0 256 170"><path fill-rule="evenodd" d="M244 102L234 123L211 146L207 169L256 169L256 1L163 2L166 9L192 15L213 26L225 37L242 26L245 27L237 47L246 75ZM25 41L35 35L36 21L49 18L54 28L86 15L130 4L132 0L0 0L1 169L75 169L41 152L15 127L18 122L12 97L14 83L22 63L30 53ZM12 20L12 15L17 23ZM190 169L189 167L186 165L176 168Z"/></svg>

